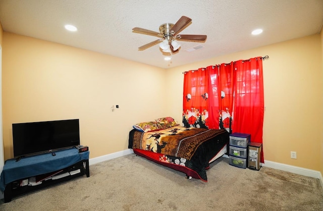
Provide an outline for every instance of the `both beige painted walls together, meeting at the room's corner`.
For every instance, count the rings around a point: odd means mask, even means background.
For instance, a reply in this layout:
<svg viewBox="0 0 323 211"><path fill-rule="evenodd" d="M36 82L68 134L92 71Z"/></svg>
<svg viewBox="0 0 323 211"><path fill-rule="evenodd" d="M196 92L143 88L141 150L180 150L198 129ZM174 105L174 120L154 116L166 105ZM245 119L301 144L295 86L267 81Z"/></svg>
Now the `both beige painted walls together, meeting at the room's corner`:
<svg viewBox="0 0 323 211"><path fill-rule="evenodd" d="M322 172L321 39L313 35L163 70L4 32L5 157L13 157L12 123L54 119L80 119L81 144L90 147L90 157L127 149L134 123L163 116L181 122L182 72L268 55L265 160ZM116 104L120 109L112 112ZM290 151L297 151L296 160Z"/></svg>

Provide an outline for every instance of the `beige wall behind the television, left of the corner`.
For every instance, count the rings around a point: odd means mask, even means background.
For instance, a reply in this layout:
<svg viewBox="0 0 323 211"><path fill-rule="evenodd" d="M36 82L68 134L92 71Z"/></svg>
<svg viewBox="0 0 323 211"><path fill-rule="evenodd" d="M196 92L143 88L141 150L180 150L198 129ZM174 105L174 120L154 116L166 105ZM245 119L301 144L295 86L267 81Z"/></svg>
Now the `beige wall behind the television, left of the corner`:
<svg viewBox="0 0 323 211"><path fill-rule="evenodd" d="M90 157L127 149L134 123L167 115L165 83L164 69L4 32L5 159L22 122L80 119Z"/></svg>

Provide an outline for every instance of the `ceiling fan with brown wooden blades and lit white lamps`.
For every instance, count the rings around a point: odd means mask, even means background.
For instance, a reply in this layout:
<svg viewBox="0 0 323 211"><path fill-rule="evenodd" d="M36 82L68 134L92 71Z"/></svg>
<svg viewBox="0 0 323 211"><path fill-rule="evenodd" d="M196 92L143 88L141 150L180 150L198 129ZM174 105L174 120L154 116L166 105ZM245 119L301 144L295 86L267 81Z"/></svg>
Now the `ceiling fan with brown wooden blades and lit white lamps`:
<svg viewBox="0 0 323 211"><path fill-rule="evenodd" d="M159 32L151 31L148 29L143 29L139 27L135 27L132 29L132 32L141 33L151 36L159 37L159 39L149 42L145 45L142 45L138 48L138 50L144 50L148 47L156 45L159 43L159 47L164 52L177 52L180 48L179 41L189 41L189 42L205 42L206 35L194 35L194 34L177 34L181 30L183 30L188 24L192 21L192 19L182 16L175 24L165 23L159 26Z"/></svg>

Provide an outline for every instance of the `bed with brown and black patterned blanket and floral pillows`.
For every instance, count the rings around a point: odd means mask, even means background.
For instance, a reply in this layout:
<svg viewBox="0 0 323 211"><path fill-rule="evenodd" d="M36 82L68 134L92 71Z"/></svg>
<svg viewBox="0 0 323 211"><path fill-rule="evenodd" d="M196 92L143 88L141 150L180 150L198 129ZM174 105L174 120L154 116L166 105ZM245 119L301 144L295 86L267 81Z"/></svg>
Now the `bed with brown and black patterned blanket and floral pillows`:
<svg viewBox="0 0 323 211"><path fill-rule="evenodd" d="M225 129L183 127L171 117L139 123L129 132L128 148L157 164L207 182L209 164L224 155L229 145Z"/></svg>

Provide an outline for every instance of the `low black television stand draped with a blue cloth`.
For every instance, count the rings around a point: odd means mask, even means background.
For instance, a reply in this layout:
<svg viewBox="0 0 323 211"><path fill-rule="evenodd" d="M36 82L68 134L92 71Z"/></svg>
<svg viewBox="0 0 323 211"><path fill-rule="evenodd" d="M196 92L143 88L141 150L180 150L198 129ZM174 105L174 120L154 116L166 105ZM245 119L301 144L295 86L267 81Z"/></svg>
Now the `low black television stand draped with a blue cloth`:
<svg viewBox="0 0 323 211"><path fill-rule="evenodd" d="M78 152L76 148L7 160L0 178L0 190L4 192L4 202L44 187L55 185L89 172L89 151Z"/></svg>

